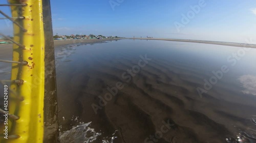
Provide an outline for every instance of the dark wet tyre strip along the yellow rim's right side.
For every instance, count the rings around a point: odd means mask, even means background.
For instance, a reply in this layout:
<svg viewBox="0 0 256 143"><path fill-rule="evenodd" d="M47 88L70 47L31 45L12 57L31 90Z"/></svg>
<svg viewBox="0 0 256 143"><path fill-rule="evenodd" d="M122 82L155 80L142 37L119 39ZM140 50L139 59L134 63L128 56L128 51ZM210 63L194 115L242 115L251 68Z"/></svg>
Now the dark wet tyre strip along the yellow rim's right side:
<svg viewBox="0 0 256 143"><path fill-rule="evenodd" d="M56 143L59 142L58 107L50 0L42 1L42 14L45 31L44 143Z"/></svg>

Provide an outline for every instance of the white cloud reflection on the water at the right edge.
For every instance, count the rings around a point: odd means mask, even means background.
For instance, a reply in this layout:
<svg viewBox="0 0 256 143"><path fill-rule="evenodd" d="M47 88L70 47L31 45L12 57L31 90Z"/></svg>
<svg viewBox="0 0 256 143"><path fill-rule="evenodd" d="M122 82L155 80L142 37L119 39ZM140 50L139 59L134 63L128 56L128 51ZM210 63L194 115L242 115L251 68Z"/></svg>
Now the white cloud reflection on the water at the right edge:
<svg viewBox="0 0 256 143"><path fill-rule="evenodd" d="M243 84L244 94L256 95L256 76L253 75L243 75L238 78L238 80Z"/></svg>

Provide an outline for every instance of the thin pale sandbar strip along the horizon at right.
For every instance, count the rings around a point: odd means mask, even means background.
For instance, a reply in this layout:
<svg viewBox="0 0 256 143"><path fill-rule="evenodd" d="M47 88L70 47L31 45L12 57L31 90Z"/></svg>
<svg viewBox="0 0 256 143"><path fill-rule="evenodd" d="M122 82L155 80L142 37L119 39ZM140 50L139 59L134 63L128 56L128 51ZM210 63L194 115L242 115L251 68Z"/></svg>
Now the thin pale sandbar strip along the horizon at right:
<svg viewBox="0 0 256 143"><path fill-rule="evenodd" d="M256 44L234 43L234 42L220 42L220 41L206 41L206 40L166 39L166 38L124 38L124 39L162 40L162 41L190 42L190 43L203 43L203 44L214 44L214 45L223 45L223 46L256 48Z"/></svg>

